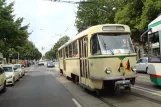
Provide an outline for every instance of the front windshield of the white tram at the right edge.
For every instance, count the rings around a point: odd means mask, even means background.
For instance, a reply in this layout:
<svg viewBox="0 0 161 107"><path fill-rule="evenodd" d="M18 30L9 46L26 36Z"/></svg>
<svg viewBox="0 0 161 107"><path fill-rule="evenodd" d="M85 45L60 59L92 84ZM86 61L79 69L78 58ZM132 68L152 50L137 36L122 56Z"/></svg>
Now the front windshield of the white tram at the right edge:
<svg viewBox="0 0 161 107"><path fill-rule="evenodd" d="M159 32L149 35L148 61L149 63L161 62Z"/></svg>

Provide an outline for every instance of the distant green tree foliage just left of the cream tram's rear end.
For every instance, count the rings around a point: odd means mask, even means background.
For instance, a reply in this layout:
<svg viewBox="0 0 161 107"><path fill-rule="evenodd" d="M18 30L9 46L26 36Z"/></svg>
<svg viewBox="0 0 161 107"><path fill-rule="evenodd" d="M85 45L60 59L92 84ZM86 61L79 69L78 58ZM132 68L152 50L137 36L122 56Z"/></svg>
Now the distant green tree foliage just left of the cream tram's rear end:
<svg viewBox="0 0 161 107"><path fill-rule="evenodd" d="M64 43L66 43L68 41L69 41L68 36L63 36L62 38L60 38L57 41L57 43L55 43L53 48L50 51L45 53L46 59L55 59L55 58L57 58L58 48L60 48Z"/></svg>

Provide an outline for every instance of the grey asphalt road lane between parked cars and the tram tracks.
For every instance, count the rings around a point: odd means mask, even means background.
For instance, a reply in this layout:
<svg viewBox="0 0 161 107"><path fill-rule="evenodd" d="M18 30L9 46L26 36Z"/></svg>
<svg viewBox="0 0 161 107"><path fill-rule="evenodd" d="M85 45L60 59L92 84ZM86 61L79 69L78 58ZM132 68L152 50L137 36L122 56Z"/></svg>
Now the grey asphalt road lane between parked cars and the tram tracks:
<svg viewBox="0 0 161 107"><path fill-rule="evenodd" d="M73 96L46 67L32 67L0 95L0 107L77 107Z"/></svg>

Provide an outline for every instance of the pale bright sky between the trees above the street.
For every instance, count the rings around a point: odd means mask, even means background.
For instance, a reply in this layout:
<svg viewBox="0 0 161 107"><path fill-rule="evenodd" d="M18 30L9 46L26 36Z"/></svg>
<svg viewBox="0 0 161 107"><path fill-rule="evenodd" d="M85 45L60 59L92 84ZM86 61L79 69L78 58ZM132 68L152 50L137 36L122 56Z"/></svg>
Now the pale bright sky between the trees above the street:
<svg viewBox="0 0 161 107"><path fill-rule="evenodd" d="M50 0L7 0L8 3L12 1L15 1L16 17L24 17L23 25L30 24L28 31L32 34L28 39L42 54L53 47L60 35L72 38L77 34L74 26L77 8L74 4Z"/></svg>

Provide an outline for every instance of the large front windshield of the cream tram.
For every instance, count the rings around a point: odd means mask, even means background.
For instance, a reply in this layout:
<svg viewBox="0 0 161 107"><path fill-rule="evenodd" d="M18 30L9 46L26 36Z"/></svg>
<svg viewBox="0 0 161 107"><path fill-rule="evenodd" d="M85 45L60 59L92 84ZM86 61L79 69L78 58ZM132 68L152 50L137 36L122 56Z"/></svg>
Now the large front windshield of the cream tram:
<svg viewBox="0 0 161 107"><path fill-rule="evenodd" d="M100 54L131 54L134 48L129 34L98 34ZM96 45L96 44L94 44Z"/></svg>

